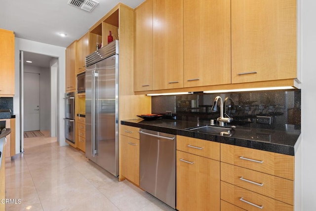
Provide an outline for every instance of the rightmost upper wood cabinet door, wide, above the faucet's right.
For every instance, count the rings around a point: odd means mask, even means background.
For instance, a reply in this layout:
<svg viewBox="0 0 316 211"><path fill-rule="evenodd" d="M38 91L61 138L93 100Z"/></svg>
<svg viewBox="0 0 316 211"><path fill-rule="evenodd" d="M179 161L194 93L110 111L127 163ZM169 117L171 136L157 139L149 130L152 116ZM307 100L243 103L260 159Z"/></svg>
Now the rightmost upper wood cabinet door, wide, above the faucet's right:
<svg viewBox="0 0 316 211"><path fill-rule="evenodd" d="M296 0L232 0L232 83L297 78Z"/></svg>

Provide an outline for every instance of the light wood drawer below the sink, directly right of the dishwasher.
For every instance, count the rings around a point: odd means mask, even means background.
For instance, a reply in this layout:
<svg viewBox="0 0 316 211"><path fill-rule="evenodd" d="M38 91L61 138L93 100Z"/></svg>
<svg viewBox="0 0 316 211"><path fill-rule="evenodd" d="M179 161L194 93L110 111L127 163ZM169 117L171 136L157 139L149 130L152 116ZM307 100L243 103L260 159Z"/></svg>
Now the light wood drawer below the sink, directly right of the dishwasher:
<svg viewBox="0 0 316 211"><path fill-rule="evenodd" d="M214 160L220 159L220 143L177 135L177 150Z"/></svg>

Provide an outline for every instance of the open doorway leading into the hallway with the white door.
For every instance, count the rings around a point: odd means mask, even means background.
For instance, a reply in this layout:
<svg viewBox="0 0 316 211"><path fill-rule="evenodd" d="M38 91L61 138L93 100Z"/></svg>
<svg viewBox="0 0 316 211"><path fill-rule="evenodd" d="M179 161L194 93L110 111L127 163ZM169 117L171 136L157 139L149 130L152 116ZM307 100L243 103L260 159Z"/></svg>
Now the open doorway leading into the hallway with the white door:
<svg viewBox="0 0 316 211"><path fill-rule="evenodd" d="M56 136L58 59L26 51L21 51L20 58L20 151L24 152L24 138Z"/></svg>

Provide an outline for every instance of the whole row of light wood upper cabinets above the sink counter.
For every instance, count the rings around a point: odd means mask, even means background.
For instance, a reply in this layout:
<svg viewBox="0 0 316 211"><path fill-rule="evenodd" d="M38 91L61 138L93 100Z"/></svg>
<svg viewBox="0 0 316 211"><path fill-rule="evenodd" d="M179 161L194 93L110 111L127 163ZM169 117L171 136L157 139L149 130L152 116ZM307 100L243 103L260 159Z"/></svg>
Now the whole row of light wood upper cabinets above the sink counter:
<svg viewBox="0 0 316 211"><path fill-rule="evenodd" d="M137 94L298 87L296 0L151 1L135 10Z"/></svg>

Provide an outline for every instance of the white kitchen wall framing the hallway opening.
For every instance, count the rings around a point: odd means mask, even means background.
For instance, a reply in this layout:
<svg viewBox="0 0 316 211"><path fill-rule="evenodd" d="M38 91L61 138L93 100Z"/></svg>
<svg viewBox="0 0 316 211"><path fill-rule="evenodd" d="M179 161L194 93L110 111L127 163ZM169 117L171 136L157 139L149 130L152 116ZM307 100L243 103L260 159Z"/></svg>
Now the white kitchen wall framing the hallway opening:
<svg viewBox="0 0 316 211"><path fill-rule="evenodd" d="M59 38L56 38L59 39ZM41 42L34 42L25 39L15 38L15 96L13 97L13 109L16 115L16 153L20 153L20 62L19 62L19 53L20 50L28 51L33 53L39 53L44 55L49 55L52 57L58 58L59 67L57 73L57 141L60 146L67 145L65 142L64 134L64 93L65 93L65 47L45 44Z"/></svg>

